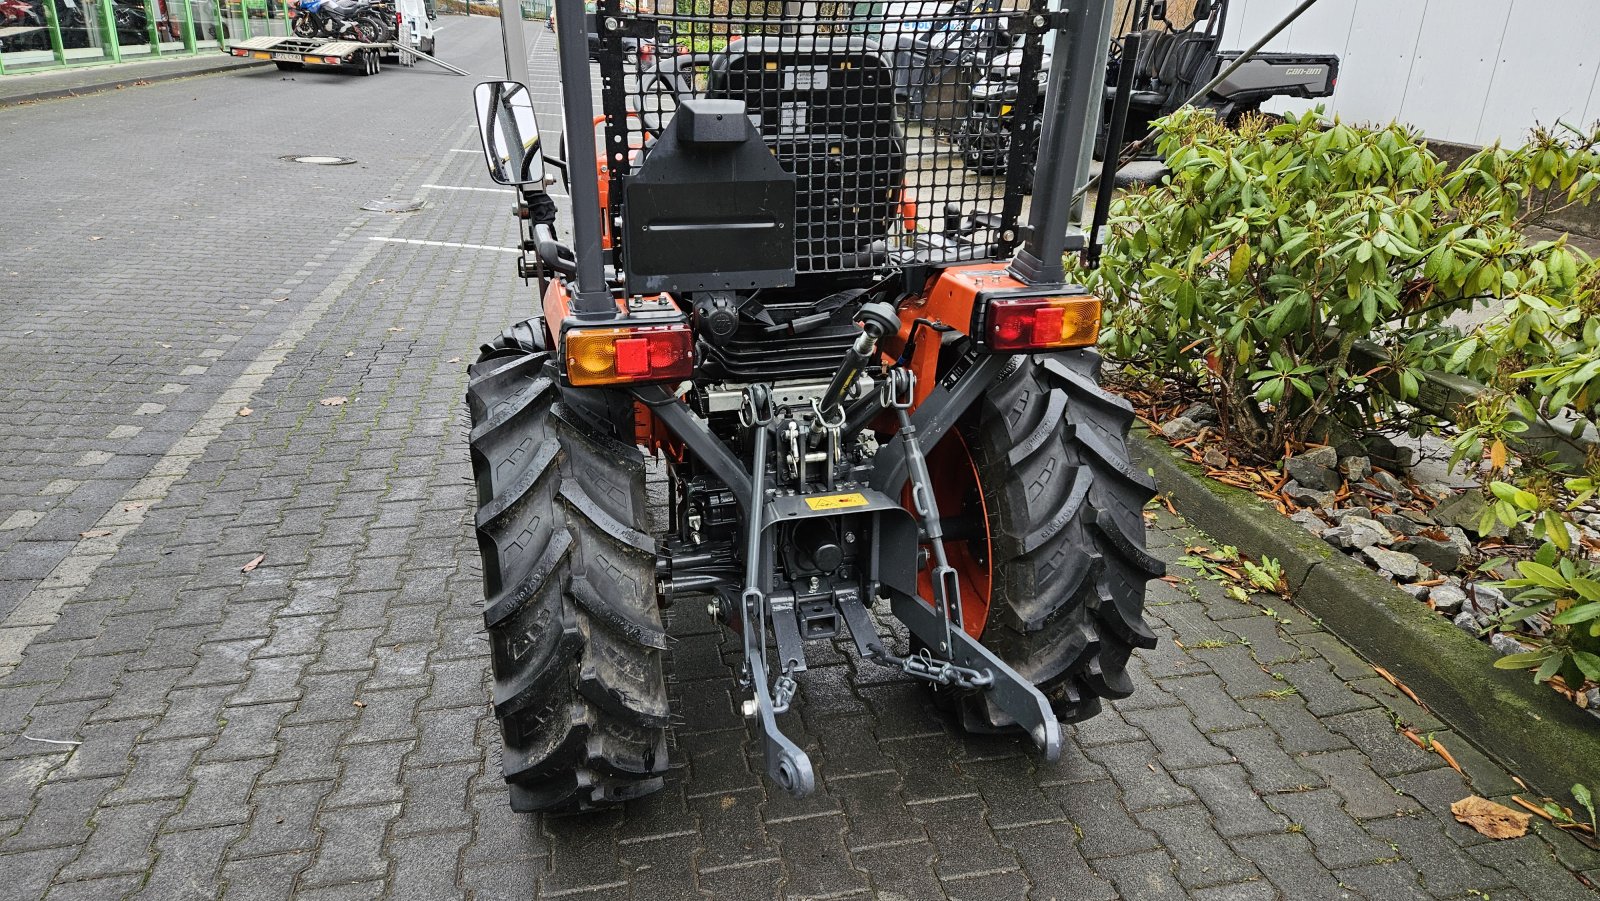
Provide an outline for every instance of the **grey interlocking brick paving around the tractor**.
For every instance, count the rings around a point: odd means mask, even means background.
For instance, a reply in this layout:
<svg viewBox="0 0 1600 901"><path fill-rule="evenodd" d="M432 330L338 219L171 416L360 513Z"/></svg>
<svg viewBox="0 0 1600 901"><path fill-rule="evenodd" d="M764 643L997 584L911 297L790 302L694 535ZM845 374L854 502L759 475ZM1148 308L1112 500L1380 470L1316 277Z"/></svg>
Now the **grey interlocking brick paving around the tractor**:
<svg viewBox="0 0 1600 901"><path fill-rule="evenodd" d="M445 42L493 69L491 22ZM1470 789L1395 722L1480 794L1515 791L1504 771L1290 605L1205 581L1152 586L1138 693L1058 763L821 647L786 715L805 800L758 776L736 647L680 603L666 791L512 815L461 394L531 304L494 250L510 195L451 190L488 187L454 152L466 104L419 69L0 112L61 150L13 182L0 250L0 898L1589 896L1547 839L1459 826ZM128 133L48 139L90 122ZM427 208L355 210L386 194ZM1194 539L1152 533L1168 560Z"/></svg>

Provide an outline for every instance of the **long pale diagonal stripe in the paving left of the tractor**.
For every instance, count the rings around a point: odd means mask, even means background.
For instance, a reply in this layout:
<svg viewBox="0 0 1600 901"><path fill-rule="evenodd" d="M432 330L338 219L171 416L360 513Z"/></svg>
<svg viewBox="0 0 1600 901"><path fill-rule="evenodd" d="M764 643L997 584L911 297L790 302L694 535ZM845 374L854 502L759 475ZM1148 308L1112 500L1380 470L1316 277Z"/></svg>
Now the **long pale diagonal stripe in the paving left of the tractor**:
<svg viewBox="0 0 1600 901"><path fill-rule="evenodd" d="M448 163L438 163L427 178L440 178L445 174ZM411 173L406 173L411 178ZM405 184L405 181L402 181ZM346 227L341 237L349 240L354 237L360 227L363 227L366 219L358 219L357 222ZM400 219L390 219L386 227L398 227ZM382 240L382 238L373 238ZM432 242L419 242L432 243ZM472 245L462 245L472 246ZM506 250L506 248L493 248ZM272 342L259 357L251 360L250 366L245 368L234 382L216 398L216 402L200 414L200 419L184 434L184 437L173 442L173 446L162 455L150 472L141 479L133 488L130 488L122 498L110 506L110 511L96 520L96 523L85 535L96 535L96 538L82 538L72 546L72 551L56 563L56 568L50 571L32 591L29 591L22 602L16 605L11 613L0 621L0 677L10 674L18 664L22 663L22 651L29 643L42 632L46 632L61 618L61 608L72 599L83 594L94 578L94 573L101 567L110 562L122 547L122 541L144 523L144 515L155 506L158 506L166 493L171 491L173 485L182 480L189 474L189 467L194 466L203 455L206 446L213 438L222 434L222 429L237 421L238 408L248 406L256 390L272 378L272 373L278 368L283 360L299 346L299 342L312 333L317 323L322 320L333 304L344 294L350 285L355 283L362 270L378 256L378 246L368 245L365 250L355 253L355 258L323 288L306 307L294 317L293 322L283 330L277 341ZM160 411L160 405L155 406Z"/></svg>

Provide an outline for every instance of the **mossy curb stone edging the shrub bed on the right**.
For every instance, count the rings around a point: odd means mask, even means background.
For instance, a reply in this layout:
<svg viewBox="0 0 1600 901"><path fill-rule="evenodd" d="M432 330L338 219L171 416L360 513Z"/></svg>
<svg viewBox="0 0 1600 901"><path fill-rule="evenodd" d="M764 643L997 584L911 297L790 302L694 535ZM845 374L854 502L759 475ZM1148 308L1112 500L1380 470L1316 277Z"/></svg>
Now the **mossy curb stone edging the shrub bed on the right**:
<svg viewBox="0 0 1600 901"><path fill-rule="evenodd" d="M1250 491L1208 479L1136 427L1130 442L1178 512L1251 557L1274 557L1294 602L1370 663L1414 690L1429 709L1539 794L1565 797L1600 783L1600 728L1526 672L1494 669L1498 655L1392 583L1312 536ZM1470 775L1470 773L1469 773Z"/></svg>

